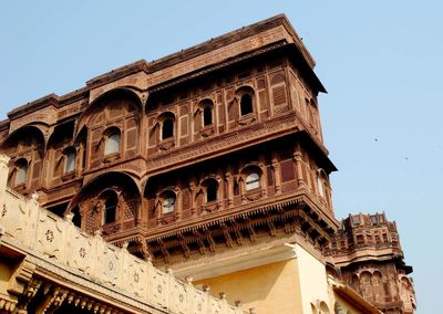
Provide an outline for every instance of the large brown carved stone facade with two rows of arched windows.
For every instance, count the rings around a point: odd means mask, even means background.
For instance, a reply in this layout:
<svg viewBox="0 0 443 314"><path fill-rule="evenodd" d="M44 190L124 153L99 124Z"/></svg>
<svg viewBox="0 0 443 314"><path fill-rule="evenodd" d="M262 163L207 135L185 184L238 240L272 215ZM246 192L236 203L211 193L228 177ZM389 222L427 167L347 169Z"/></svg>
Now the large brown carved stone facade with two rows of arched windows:
<svg viewBox="0 0 443 314"><path fill-rule="evenodd" d="M346 236L333 214L336 167L317 102L326 90L313 66L278 15L113 70L8 114L7 184L156 266L198 273L222 257L302 243L323 265L348 259L347 281L360 264L349 258L357 247L336 250ZM402 258L390 257L395 265Z"/></svg>

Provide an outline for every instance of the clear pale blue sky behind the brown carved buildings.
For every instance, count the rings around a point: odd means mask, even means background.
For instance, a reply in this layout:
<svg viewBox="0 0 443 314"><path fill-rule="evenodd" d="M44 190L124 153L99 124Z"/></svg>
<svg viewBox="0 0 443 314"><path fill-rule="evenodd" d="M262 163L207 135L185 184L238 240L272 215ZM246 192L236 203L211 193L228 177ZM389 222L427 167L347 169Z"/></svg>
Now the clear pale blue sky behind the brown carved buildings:
<svg viewBox="0 0 443 314"><path fill-rule="evenodd" d="M319 102L339 168L331 176L337 217L385 211L395 220L414 266L418 313L435 313L443 282L442 12L441 1L2 1L0 118L133 61L285 13L329 92Z"/></svg>

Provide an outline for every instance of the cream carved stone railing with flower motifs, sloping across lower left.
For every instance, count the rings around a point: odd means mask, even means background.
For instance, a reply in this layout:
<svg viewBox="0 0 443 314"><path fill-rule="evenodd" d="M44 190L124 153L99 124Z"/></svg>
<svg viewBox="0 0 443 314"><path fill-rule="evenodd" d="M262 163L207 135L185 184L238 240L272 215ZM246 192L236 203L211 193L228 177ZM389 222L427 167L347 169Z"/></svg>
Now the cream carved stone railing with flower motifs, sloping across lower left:
<svg viewBox="0 0 443 314"><path fill-rule="evenodd" d="M166 313L244 313L225 297L213 297L208 289L197 290L192 280L177 280L172 271L130 254L125 247L105 242L100 233L86 234L72 223L72 217L63 219L41 208L37 195L25 199L10 190L6 187L8 159L0 155L1 240Z"/></svg>

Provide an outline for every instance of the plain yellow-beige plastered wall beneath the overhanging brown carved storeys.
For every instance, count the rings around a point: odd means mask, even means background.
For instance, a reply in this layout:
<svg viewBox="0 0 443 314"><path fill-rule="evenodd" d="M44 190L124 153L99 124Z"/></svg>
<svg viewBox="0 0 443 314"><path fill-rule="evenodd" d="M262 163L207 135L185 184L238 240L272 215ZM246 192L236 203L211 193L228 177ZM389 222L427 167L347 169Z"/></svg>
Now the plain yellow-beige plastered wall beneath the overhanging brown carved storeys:
<svg viewBox="0 0 443 314"><path fill-rule="evenodd" d="M311 313L311 303L329 303L324 265L302 247L291 245L295 258L257 268L204 279L214 296L226 293L241 301L243 310L255 307L260 314Z"/></svg>

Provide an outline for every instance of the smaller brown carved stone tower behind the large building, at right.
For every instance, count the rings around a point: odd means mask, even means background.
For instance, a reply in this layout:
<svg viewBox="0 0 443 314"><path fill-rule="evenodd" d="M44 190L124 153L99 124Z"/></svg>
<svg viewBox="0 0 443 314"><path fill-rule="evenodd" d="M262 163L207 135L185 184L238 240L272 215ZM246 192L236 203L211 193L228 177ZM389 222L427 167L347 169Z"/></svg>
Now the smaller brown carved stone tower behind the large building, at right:
<svg viewBox="0 0 443 314"><path fill-rule="evenodd" d="M384 213L343 219L328 254L342 280L383 313L414 313L412 266L403 261L395 222Z"/></svg>

